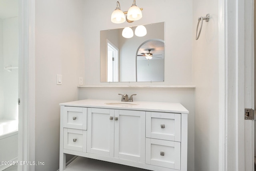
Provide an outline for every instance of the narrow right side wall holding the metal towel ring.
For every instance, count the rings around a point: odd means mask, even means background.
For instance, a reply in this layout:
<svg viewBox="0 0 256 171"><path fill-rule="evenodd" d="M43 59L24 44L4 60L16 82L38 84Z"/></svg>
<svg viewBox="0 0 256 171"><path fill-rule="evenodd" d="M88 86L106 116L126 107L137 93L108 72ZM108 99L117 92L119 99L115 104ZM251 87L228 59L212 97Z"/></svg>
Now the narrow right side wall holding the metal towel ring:
<svg viewBox="0 0 256 171"><path fill-rule="evenodd" d="M210 14L195 40L197 18ZM195 170L218 170L218 1L193 0L195 91Z"/></svg>

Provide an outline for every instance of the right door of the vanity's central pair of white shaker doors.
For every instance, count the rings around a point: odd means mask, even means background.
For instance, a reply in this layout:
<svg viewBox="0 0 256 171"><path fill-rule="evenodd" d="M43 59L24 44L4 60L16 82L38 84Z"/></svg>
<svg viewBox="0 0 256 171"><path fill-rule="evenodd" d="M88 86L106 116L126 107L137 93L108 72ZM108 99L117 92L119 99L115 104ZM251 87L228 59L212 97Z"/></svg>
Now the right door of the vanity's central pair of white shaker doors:
<svg viewBox="0 0 256 171"><path fill-rule="evenodd" d="M145 163L145 111L115 110L115 155Z"/></svg>

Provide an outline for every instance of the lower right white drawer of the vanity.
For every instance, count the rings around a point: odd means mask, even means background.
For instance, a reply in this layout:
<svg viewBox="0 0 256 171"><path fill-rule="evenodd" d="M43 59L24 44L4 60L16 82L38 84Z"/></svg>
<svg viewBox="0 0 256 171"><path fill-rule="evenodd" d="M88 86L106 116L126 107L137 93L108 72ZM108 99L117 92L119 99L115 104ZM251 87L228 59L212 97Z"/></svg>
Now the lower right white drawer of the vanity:
<svg viewBox="0 0 256 171"><path fill-rule="evenodd" d="M180 142L146 138L146 164L180 170Z"/></svg>

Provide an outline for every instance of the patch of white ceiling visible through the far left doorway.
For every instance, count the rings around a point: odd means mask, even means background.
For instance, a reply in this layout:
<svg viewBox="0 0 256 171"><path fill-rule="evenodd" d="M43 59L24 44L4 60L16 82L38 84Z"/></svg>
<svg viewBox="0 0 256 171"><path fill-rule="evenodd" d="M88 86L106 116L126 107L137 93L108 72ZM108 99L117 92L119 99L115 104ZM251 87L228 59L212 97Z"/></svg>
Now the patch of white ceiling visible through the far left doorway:
<svg viewBox="0 0 256 171"><path fill-rule="evenodd" d="M18 0L0 0L0 19L18 16Z"/></svg>

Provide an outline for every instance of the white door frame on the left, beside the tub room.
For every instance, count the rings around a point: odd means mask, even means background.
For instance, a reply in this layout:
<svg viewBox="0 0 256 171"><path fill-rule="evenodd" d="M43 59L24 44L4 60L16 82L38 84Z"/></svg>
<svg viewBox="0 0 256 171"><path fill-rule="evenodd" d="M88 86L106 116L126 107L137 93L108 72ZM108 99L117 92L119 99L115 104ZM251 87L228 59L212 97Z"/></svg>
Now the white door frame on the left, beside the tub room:
<svg viewBox="0 0 256 171"><path fill-rule="evenodd" d="M35 161L35 1L18 0L19 126L18 161ZM18 165L18 171L34 171Z"/></svg>

